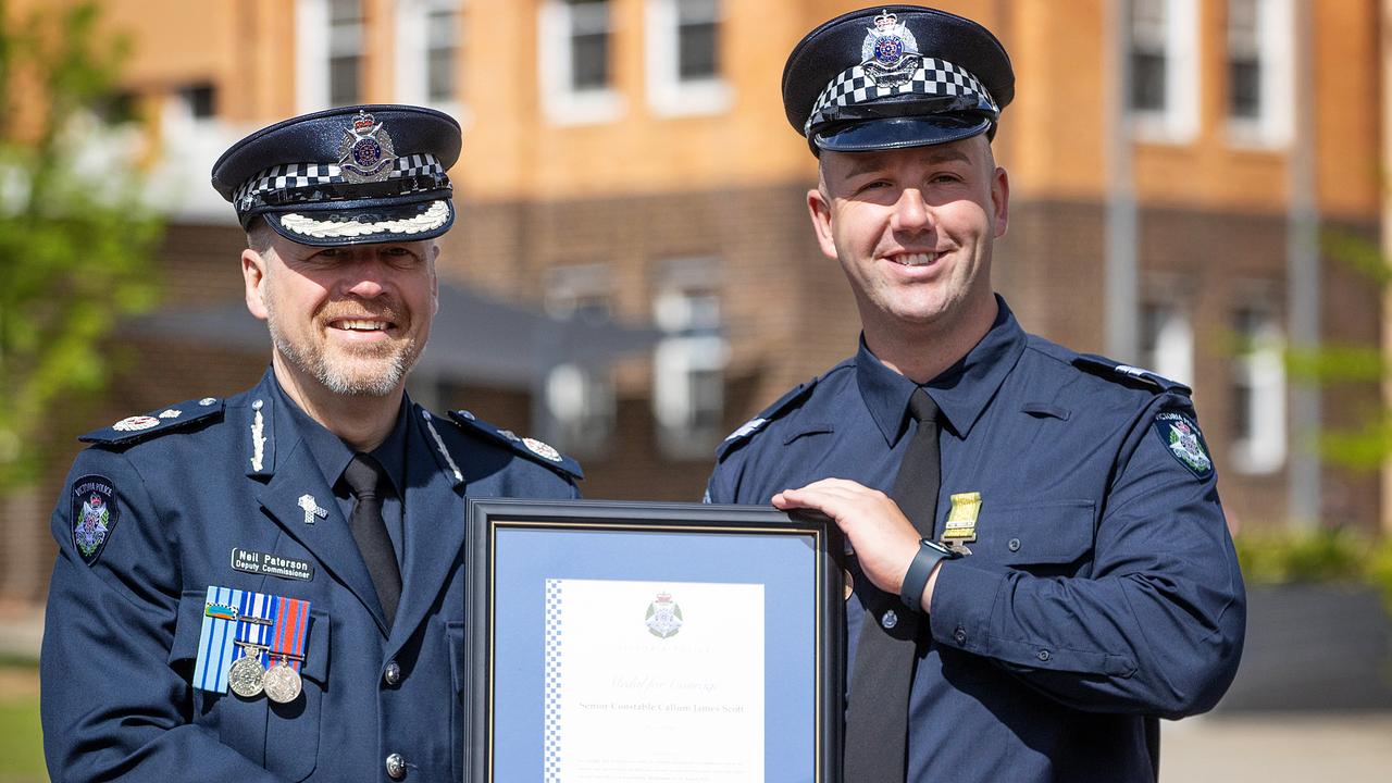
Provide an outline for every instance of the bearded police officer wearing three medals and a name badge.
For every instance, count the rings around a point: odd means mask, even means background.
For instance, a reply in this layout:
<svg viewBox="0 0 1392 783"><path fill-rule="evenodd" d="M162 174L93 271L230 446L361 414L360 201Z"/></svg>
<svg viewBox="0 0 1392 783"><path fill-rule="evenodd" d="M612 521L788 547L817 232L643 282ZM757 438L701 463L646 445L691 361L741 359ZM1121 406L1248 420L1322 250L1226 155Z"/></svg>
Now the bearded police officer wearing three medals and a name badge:
<svg viewBox="0 0 1392 783"><path fill-rule="evenodd" d="M445 114L355 106L214 166L271 364L82 437L53 514L54 780L462 777L466 497L575 497L580 472L404 393L458 155Z"/></svg>

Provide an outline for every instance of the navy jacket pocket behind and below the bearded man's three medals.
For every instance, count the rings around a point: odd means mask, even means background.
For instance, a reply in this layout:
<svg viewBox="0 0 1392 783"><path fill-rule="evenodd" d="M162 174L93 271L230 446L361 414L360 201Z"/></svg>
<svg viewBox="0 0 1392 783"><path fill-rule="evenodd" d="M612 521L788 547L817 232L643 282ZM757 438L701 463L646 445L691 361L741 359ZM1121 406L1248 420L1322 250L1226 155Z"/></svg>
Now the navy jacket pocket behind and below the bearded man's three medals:
<svg viewBox="0 0 1392 783"><path fill-rule="evenodd" d="M184 591L180 596L170 666L192 679L198 642L203 628L206 591ZM301 695L290 704L276 704L264 694L244 699L193 688L193 722L214 731L219 740L285 780L303 780L319 759L320 708L329 676L329 616L309 610L305 662L299 667Z"/></svg>

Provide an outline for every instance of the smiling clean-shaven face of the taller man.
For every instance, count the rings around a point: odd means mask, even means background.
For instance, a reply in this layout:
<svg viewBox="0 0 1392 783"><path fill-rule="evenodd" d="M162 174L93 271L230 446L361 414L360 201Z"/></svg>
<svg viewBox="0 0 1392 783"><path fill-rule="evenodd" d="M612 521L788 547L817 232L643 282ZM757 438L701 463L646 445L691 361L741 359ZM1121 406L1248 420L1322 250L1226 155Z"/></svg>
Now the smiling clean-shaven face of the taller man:
<svg viewBox="0 0 1392 783"><path fill-rule="evenodd" d="M1005 234L1008 194L981 135L823 152L807 206L821 251L841 262L855 290L871 348L877 340L984 334L995 315L991 244Z"/></svg>

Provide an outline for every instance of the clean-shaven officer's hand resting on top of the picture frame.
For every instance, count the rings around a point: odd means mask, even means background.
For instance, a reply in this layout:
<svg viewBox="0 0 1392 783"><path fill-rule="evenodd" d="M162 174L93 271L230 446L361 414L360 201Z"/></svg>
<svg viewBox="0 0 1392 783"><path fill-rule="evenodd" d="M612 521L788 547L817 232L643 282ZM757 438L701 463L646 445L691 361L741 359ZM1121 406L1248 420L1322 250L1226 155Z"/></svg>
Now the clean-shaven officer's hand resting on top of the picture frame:
<svg viewBox="0 0 1392 783"><path fill-rule="evenodd" d="M899 595L903 575L919 553L919 531L888 495L844 478L824 478L802 489L785 489L774 495L773 503L784 511L813 509L835 520L851 539L860 570L877 588ZM934 581L937 567L923 591L924 612Z"/></svg>

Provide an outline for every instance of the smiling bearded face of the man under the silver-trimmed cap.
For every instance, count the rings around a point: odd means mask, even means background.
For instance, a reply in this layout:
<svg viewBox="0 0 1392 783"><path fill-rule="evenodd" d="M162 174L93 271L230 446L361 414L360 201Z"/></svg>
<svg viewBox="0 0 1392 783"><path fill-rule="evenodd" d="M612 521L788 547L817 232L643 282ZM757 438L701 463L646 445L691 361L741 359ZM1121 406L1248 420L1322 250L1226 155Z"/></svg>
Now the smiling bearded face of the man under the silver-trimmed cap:
<svg viewBox="0 0 1392 783"><path fill-rule="evenodd" d="M437 307L433 241L320 248L269 228L242 251L246 307L267 322L283 386L400 393Z"/></svg>

